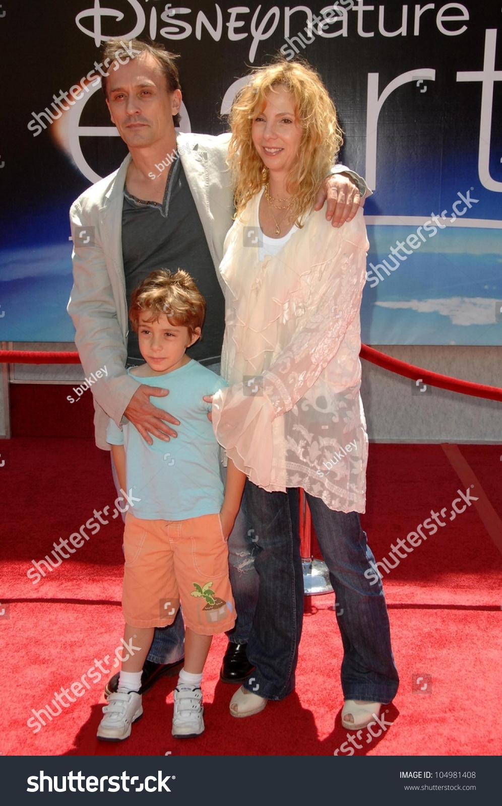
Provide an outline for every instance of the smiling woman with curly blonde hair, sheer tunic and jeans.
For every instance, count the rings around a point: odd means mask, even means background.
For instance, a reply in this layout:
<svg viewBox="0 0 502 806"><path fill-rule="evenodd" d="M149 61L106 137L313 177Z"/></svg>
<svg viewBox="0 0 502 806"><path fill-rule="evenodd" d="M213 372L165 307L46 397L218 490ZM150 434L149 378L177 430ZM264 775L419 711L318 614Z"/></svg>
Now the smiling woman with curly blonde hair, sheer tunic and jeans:
<svg viewBox="0 0 502 806"><path fill-rule="evenodd" d="M236 221L220 275L226 301L215 434L249 477L259 594L248 658L252 678L234 717L295 688L303 618L298 488L312 511L337 594L344 659L342 724L360 729L395 696L380 580L358 513L365 510L366 422L359 394L359 309L366 278L362 210L340 229L312 211L342 138L320 77L279 60L258 69L230 115Z"/></svg>

